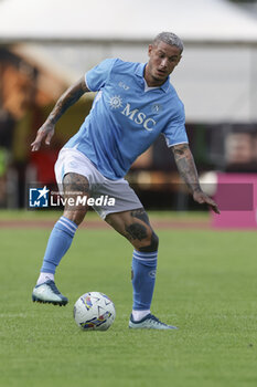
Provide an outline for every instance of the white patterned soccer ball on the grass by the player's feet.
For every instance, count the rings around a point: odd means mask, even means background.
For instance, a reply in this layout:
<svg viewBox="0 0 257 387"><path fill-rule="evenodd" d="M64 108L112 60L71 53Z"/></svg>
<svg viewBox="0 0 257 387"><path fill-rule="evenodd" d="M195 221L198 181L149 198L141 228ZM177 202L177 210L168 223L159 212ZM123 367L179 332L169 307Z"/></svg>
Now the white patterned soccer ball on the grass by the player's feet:
<svg viewBox="0 0 257 387"><path fill-rule="evenodd" d="M113 301L99 292L83 294L74 305L74 318L84 331L107 331L115 321Z"/></svg>

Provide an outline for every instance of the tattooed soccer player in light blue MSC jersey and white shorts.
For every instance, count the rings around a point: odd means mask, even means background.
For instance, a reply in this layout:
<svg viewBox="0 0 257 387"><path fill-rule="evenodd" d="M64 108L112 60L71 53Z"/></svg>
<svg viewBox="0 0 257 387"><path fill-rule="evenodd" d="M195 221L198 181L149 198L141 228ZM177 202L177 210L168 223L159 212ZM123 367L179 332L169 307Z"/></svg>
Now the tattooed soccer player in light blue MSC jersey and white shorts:
<svg viewBox="0 0 257 387"><path fill-rule="evenodd" d="M119 59L103 61L60 97L32 143L32 151L39 150L44 138L50 144L64 112L84 93L98 92L81 129L61 149L55 175L66 199L78 195L115 198L115 206L98 206L95 210L133 245L130 328L175 328L150 312L158 237L142 203L124 179L131 164L163 134L194 200L218 212L216 203L200 187L188 144L183 104L170 83L169 75L180 63L182 51L183 43L175 34L162 32L149 45L147 64ZM68 302L57 290L54 274L86 212L83 203L65 206L50 236L33 301L55 305Z"/></svg>

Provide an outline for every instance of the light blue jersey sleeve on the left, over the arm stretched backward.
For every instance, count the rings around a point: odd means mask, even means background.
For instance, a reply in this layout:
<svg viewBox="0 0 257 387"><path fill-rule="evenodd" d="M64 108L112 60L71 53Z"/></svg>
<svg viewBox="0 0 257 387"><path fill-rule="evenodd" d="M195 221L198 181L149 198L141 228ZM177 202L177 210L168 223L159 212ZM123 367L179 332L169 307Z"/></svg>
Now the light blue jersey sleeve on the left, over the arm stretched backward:
<svg viewBox="0 0 257 387"><path fill-rule="evenodd" d="M85 82L92 92L98 92L109 77L116 59L106 59L98 65L86 72Z"/></svg>

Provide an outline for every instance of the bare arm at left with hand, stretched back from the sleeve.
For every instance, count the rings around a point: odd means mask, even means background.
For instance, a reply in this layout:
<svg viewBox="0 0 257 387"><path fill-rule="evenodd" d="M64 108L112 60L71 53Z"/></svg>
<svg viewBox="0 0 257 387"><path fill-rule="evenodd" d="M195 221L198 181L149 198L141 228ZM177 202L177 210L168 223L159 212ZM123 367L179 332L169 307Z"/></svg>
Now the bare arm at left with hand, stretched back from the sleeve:
<svg viewBox="0 0 257 387"><path fill-rule="evenodd" d="M50 144L51 138L54 135L54 127L57 121L62 117L62 115L66 112L66 109L69 106L74 105L75 102L77 102L81 98L81 96L87 92L89 92L89 90L86 86L84 77L82 77L61 95L53 111L50 113L47 119L39 128L35 140L31 144L32 151L36 151L40 149L41 143L44 137L45 144Z"/></svg>

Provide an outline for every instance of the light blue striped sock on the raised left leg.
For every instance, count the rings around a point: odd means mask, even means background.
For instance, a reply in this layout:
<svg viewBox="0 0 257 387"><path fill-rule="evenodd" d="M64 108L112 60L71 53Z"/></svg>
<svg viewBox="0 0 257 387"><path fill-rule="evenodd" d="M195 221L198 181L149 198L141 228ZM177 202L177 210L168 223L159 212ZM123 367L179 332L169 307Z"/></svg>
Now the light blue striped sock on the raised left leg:
<svg viewBox="0 0 257 387"><path fill-rule="evenodd" d="M65 217L58 219L50 234L41 273L45 273L45 275L55 273L63 255L72 244L76 230L77 224L72 220ZM41 278L43 276L41 275Z"/></svg>

